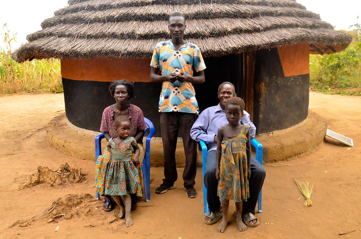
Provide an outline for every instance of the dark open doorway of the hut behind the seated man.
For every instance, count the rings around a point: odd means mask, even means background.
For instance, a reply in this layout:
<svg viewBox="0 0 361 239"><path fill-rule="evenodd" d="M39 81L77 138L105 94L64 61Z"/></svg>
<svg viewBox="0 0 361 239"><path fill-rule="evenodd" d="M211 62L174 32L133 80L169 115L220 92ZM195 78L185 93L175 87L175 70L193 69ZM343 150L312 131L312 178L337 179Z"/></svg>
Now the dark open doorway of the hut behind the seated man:
<svg viewBox="0 0 361 239"><path fill-rule="evenodd" d="M253 119L253 79L255 73L256 52L243 52L220 57L204 58L206 65L205 83L195 85L199 109L217 105L218 86L225 81L235 86L235 92L246 105L246 111Z"/></svg>

